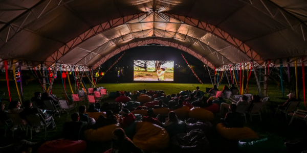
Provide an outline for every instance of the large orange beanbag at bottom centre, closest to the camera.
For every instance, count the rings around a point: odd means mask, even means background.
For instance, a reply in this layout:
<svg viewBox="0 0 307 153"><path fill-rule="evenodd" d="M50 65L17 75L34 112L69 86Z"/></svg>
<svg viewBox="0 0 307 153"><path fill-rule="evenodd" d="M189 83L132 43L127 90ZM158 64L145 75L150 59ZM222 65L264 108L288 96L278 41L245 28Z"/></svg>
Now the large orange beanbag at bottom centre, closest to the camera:
<svg viewBox="0 0 307 153"><path fill-rule="evenodd" d="M158 150L168 146L168 133L156 124L137 122L136 131L132 141L144 151Z"/></svg>

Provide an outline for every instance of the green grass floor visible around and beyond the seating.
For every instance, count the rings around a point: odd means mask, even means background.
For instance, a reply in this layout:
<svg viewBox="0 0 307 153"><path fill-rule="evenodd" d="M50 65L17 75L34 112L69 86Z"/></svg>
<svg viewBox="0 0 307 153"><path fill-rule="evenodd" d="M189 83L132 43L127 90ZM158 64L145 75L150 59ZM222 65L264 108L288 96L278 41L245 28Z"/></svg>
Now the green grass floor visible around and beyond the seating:
<svg viewBox="0 0 307 153"><path fill-rule="evenodd" d="M8 98L8 92L5 82L0 82L0 86L2 86L2 91L5 91L6 94L2 98ZM87 87L90 84L86 84ZM171 93L179 93L182 90L194 90L196 86L199 86L201 90L205 90L206 87L212 87L211 84L176 84L176 83L123 83L123 84L97 84L97 86L103 86L107 89L108 92L113 91L135 91L135 90L163 90L166 94ZM18 94L16 91L16 87L13 82L10 84L11 87L11 97L12 100L18 100ZM72 86L73 90L75 90L75 86ZM219 89L221 90L223 87L220 86ZM24 99L30 99L33 96L35 91L41 91L41 86L39 83L32 82L29 85L24 85ZM63 90L63 86L61 83L55 83L53 85L53 93L56 94L58 97L65 98L65 93ZM71 90L69 84L67 84L67 94L71 95ZM255 84L249 85L249 93L257 94L257 87ZM293 123L288 126L290 117L288 120L284 114L277 114L276 116L276 106L279 103L282 103L284 99L282 98L281 90L276 87L276 85L269 85L269 92L268 92L269 104L267 107L267 112L261 114L262 121L260 121L259 116L254 116L253 121L250 120L250 116L247 115L247 123L245 126L250 127L254 130L260 138L265 137L278 137L283 141L287 140L296 140L299 138L304 138L307 136L306 130L306 123L302 120L294 120ZM302 97L300 97L302 99ZM136 100L136 97L133 97L132 100ZM107 98L103 102L113 102L114 99ZM6 105L6 109L8 104ZM303 103L300 104L300 108L304 109ZM70 117L69 117L70 118ZM67 114L62 114L59 118L58 116L55 117L55 123L57 125L57 130L55 132L48 132L46 140L44 140L45 133L35 133L33 132L33 140L32 141L49 141L54 140L62 137L62 125L64 122L68 121ZM236 141L230 141L222 138L220 135L216 133L215 125L220 122L220 118L222 116L215 115L214 120L212 121L213 124L213 132L207 136L207 139L210 143L210 152L239 152L237 147ZM30 137L26 137L26 133L23 131L16 131L15 138L12 138L12 133L8 132L7 137L3 137L4 130L0 129L1 137L0 137L0 145L3 146L8 144L9 142L15 139L27 139L30 140ZM104 144L90 144L88 152L103 152L104 150L110 147L110 143ZM169 152L166 151L166 152Z"/></svg>

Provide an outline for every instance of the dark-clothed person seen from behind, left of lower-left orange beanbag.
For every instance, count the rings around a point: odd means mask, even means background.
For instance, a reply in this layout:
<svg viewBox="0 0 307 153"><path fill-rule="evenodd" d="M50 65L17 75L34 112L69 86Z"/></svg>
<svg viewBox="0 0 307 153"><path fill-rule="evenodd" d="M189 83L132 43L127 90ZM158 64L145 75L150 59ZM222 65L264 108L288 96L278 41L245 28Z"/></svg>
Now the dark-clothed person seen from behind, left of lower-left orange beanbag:
<svg viewBox="0 0 307 153"><path fill-rule="evenodd" d="M81 140L83 139L86 122L80 121L79 114L73 113L71 122L63 125L63 135L65 139Z"/></svg>

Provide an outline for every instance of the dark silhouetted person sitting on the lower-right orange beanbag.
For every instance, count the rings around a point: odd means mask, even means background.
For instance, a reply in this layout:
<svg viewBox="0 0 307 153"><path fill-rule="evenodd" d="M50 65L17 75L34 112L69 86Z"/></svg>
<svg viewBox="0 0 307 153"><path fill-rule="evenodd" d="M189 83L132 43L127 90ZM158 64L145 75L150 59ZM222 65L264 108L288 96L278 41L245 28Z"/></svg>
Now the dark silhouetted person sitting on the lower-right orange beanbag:
<svg viewBox="0 0 307 153"><path fill-rule="evenodd" d="M235 104L231 104L230 112L226 114L225 118L221 118L221 122L228 128L243 127L242 114L236 112L236 108Z"/></svg>

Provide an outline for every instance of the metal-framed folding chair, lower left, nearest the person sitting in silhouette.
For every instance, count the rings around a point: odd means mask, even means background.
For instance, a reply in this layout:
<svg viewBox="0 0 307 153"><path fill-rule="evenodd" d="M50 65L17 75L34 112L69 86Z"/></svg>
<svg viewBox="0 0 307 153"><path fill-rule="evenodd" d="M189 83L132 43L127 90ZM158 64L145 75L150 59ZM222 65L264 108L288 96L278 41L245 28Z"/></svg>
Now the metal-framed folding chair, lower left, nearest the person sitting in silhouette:
<svg viewBox="0 0 307 153"><path fill-rule="evenodd" d="M53 123L54 126L56 127L52 116L48 117L47 119L44 119L40 114L31 114L31 115L27 115L26 118L30 126L30 139L32 139L33 130L45 129L45 138L46 138L47 127L51 123Z"/></svg>

